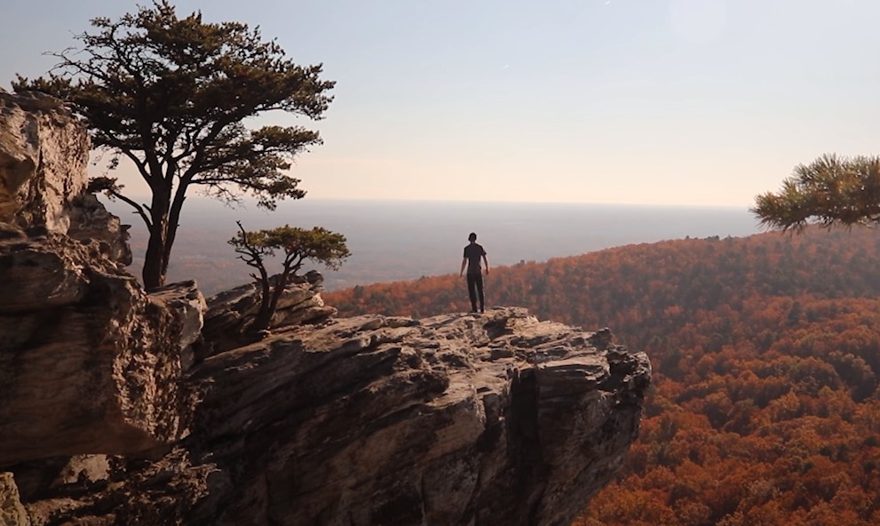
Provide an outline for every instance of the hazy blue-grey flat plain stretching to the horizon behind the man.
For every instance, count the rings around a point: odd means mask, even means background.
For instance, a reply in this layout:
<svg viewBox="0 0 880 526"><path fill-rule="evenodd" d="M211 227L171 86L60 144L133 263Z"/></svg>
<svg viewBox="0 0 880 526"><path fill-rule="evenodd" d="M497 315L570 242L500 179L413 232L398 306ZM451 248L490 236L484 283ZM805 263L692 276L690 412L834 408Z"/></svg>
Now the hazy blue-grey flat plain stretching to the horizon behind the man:
<svg viewBox="0 0 880 526"><path fill-rule="evenodd" d="M139 275L147 230L129 205L107 208L131 224ZM196 279L206 295L250 280L252 269L226 243L237 231L281 227L327 227L345 235L352 256L340 270L321 271L329 291L355 285L406 281L457 273L470 232L488 252L491 266L544 261L631 243L685 237L741 237L762 229L745 208L677 207L590 203L479 203L301 199L279 203L275 211L255 203L230 208L193 197L184 206L171 253L169 283ZM280 269L270 263L270 272Z"/></svg>

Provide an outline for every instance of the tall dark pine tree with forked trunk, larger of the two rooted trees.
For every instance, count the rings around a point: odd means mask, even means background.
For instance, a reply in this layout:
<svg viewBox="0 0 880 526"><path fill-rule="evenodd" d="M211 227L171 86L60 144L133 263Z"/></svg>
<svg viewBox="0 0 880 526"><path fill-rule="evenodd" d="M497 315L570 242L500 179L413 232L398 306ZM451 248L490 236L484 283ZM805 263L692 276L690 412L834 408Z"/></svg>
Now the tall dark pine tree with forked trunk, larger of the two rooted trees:
<svg viewBox="0 0 880 526"><path fill-rule="evenodd" d="M230 203L253 195L269 210L305 195L286 171L321 143L318 132L245 122L273 110L321 119L334 85L321 80L321 65L298 66L258 28L207 23L201 12L178 18L166 0L91 26L75 36L82 48L51 53L60 62L48 77L19 76L12 87L67 100L93 146L112 153L111 167L128 159L147 182L149 204L124 195L113 178L92 186L129 203L147 225L147 289L164 283L189 187Z"/></svg>

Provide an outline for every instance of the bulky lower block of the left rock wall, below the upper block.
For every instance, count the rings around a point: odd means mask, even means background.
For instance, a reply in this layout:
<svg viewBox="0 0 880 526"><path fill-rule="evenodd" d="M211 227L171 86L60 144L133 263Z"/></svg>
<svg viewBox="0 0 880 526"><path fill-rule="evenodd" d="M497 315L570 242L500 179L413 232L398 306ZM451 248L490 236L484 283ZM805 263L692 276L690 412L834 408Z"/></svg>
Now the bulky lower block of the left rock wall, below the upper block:
<svg viewBox="0 0 880 526"><path fill-rule="evenodd" d="M4 276L21 280L0 301L0 465L147 450L183 432L174 381L180 316L75 244L0 243L0 267L11 267ZM60 262L70 265L67 274L37 271Z"/></svg>

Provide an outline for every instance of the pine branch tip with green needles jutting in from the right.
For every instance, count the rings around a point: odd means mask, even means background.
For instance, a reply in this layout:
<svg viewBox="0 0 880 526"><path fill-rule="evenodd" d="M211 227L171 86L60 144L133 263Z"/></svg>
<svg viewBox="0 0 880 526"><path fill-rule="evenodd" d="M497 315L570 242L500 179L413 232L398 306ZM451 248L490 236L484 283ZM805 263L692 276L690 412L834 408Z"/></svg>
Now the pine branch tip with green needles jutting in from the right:
<svg viewBox="0 0 880 526"><path fill-rule="evenodd" d="M783 230L880 222L880 157L822 155L800 164L779 193L757 195L751 211Z"/></svg>

